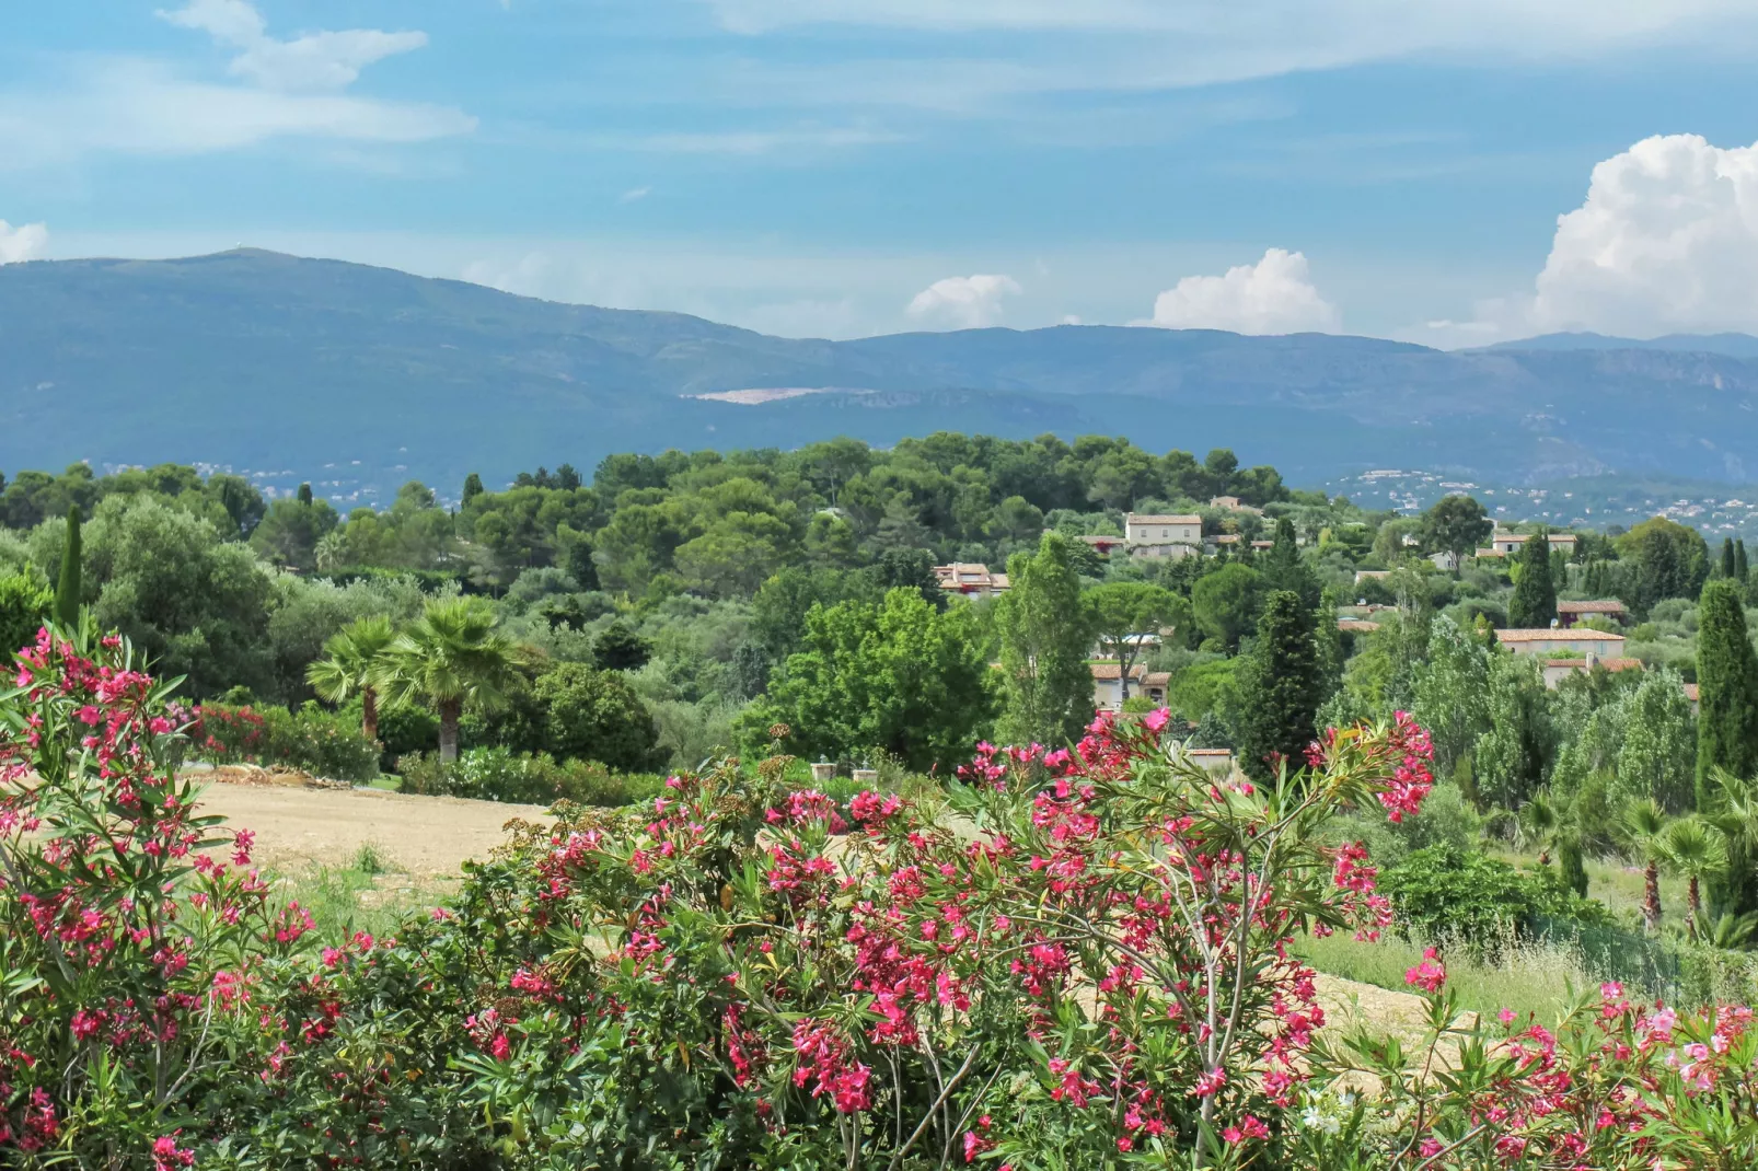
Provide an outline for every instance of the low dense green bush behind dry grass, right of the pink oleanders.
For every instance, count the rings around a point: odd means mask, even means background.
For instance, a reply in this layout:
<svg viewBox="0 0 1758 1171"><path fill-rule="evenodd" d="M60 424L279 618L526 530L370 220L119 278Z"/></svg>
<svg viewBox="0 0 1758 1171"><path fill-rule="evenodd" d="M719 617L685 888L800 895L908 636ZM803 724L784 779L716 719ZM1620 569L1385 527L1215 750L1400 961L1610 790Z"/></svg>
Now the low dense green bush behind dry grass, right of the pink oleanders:
<svg viewBox="0 0 1758 1171"><path fill-rule="evenodd" d="M1477 955L1529 934L1538 916L1602 925L1610 911L1565 890L1551 870L1517 870L1450 842L1413 851L1380 876L1398 930Z"/></svg>

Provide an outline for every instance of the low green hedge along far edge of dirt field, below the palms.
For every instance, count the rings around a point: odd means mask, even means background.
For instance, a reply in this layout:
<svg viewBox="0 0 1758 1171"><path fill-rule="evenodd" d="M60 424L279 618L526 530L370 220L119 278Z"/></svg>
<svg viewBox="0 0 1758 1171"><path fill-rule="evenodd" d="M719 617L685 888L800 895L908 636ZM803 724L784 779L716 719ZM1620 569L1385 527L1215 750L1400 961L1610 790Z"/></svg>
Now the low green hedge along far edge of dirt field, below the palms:
<svg viewBox="0 0 1758 1171"><path fill-rule="evenodd" d="M483 802L548 805L631 805L657 796L665 782L652 774L614 774L598 761L556 763L548 753L512 753L503 747L469 749L445 765L438 756L413 754L397 761L403 791L424 796L469 796Z"/></svg>

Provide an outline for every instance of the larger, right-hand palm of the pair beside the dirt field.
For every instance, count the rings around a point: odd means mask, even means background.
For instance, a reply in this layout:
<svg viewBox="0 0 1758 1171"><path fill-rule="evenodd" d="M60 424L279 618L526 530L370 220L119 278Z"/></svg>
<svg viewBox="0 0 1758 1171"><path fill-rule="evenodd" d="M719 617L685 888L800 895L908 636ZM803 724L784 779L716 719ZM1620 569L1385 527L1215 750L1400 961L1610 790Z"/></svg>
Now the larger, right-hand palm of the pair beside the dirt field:
<svg viewBox="0 0 1758 1171"><path fill-rule="evenodd" d="M498 703L513 677L513 644L494 633L494 610L480 598L427 603L373 672L387 707L434 707L440 760L447 763L457 760L457 721L464 703Z"/></svg>

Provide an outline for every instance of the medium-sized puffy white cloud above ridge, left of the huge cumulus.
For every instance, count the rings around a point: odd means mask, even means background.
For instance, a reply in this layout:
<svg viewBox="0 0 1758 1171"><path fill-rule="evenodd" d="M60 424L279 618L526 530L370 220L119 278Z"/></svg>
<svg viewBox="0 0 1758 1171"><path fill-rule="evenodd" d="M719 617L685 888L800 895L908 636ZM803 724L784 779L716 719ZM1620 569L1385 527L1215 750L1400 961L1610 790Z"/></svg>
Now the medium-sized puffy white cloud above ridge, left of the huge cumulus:
<svg viewBox="0 0 1758 1171"><path fill-rule="evenodd" d="M1313 287L1306 255L1271 248L1225 276L1187 276L1153 301L1148 325L1229 329L1238 334L1334 331L1341 316Z"/></svg>

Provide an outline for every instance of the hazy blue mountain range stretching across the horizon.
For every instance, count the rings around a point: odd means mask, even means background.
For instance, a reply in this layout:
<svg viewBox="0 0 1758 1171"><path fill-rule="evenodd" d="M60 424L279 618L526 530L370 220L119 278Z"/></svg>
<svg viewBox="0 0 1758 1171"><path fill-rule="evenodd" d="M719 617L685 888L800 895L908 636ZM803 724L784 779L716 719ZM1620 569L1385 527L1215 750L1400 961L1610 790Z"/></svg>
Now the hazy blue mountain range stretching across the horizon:
<svg viewBox="0 0 1758 1171"><path fill-rule="evenodd" d="M738 394L744 392L744 394ZM0 265L0 469L160 461L339 499L608 452L930 431L1231 447L1296 484L1746 482L1758 338L1552 334L1484 350L1058 325L819 341L338 260Z"/></svg>

